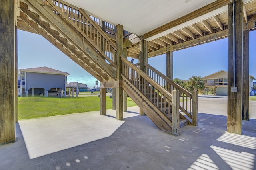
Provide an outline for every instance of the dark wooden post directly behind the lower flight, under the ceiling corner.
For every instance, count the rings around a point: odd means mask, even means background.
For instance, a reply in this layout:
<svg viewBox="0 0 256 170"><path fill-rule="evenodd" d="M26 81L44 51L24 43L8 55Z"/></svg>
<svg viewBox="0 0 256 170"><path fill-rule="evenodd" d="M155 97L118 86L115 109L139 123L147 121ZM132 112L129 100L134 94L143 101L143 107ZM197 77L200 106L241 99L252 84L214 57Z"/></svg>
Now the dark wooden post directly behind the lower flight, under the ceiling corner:
<svg viewBox="0 0 256 170"><path fill-rule="evenodd" d="M140 41L139 63L140 63L140 70L147 73L144 63L148 63L148 41L145 41L143 37L141 37L141 41ZM140 84L143 85L143 82L141 82ZM140 115L145 115L142 109L140 109Z"/></svg>

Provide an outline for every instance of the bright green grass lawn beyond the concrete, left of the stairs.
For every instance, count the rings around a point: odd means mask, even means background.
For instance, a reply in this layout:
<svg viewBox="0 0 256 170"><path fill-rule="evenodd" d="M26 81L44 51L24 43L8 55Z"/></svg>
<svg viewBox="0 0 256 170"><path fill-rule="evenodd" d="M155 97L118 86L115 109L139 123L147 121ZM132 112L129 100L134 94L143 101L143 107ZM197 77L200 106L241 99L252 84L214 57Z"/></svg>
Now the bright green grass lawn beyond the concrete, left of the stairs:
<svg viewBox="0 0 256 170"><path fill-rule="evenodd" d="M127 106L136 106L131 98L127 98ZM106 109L112 109L112 99L106 96ZM100 98L57 98L57 97L18 97L18 119L31 119L72 113L100 110Z"/></svg>

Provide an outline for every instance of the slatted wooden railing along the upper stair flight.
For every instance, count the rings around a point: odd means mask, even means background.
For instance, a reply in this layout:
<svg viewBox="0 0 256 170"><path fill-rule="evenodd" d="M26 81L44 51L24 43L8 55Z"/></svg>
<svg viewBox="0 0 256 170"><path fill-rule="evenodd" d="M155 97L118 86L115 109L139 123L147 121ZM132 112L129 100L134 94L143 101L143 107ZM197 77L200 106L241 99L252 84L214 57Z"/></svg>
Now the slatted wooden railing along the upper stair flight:
<svg viewBox="0 0 256 170"><path fill-rule="evenodd" d="M62 0L42 0L46 5L52 6L53 12L61 15L64 13L67 18L72 20L73 26L78 29L84 36L84 41L89 41L95 49L101 53L105 59L116 67L117 47L110 38L104 33L97 23L86 14L86 12L64 2Z"/></svg>

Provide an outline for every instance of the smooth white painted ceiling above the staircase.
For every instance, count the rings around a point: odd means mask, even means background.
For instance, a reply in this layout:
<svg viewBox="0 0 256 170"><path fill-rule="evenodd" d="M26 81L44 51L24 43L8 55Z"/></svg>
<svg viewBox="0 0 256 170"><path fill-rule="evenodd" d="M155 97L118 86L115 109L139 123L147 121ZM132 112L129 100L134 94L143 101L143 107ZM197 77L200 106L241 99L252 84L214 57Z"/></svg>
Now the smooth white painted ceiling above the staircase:
<svg viewBox="0 0 256 170"><path fill-rule="evenodd" d="M143 35L216 0L65 0L96 18ZM186 3L188 2L188 3ZM160 35L158 35L160 36Z"/></svg>

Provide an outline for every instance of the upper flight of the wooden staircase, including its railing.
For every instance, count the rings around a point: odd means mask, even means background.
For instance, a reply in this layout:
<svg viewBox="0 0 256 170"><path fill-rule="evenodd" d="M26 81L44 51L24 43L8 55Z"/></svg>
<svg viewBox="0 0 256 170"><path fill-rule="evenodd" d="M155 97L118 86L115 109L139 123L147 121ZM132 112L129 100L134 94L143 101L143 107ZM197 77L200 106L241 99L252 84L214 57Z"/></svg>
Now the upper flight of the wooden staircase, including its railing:
<svg viewBox="0 0 256 170"><path fill-rule="evenodd" d="M55 0L20 0L18 18L95 78L116 80L116 45L84 10Z"/></svg>

